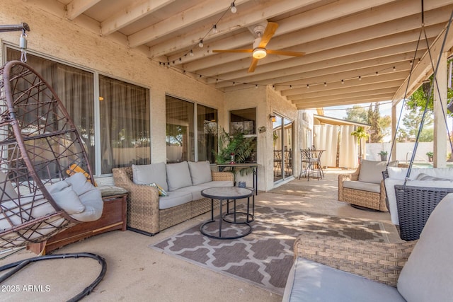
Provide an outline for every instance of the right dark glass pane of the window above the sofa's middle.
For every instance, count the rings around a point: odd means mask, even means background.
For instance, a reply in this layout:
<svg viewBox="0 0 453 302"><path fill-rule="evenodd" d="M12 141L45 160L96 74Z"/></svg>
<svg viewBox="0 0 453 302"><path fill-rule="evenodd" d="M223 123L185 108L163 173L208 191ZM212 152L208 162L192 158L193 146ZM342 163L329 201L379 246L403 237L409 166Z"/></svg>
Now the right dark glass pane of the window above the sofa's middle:
<svg viewBox="0 0 453 302"><path fill-rule="evenodd" d="M217 110L197 105L198 161L215 162L217 151Z"/></svg>

